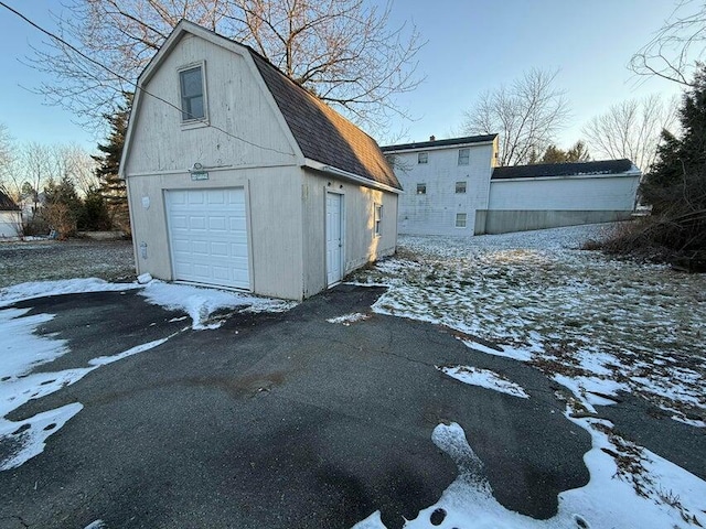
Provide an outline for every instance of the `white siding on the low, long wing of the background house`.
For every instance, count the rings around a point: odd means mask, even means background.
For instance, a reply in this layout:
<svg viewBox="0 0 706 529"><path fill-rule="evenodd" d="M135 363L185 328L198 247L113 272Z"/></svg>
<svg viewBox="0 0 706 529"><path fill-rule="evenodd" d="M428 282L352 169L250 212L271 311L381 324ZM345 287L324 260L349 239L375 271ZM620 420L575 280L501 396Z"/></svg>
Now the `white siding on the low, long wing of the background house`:
<svg viewBox="0 0 706 529"><path fill-rule="evenodd" d="M632 210L639 175L493 180L491 210Z"/></svg>

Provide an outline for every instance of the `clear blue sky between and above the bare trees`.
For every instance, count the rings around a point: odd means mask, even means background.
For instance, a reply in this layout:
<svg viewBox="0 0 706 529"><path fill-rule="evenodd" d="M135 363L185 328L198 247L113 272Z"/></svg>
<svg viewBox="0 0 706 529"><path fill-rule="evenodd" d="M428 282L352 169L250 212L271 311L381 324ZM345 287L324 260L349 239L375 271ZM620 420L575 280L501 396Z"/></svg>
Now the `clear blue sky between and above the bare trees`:
<svg viewBox="0 0 706 529"><path fill-rule="evenodd" d="M58 0L6 2L55 29L49 11L61 10ZM418 56L426 80L399 98L418 119L394 129L404 127L402 140L410 141L453 136L480 91L531 67L559 68L557 87L567 90L573 117L558 143L568 147L580 139L581 126L611 104L680 93L675 84L635 78L627 68L673 8L671 0L396 0L393 23L413 20L428 43ZM1 8L0 29L0 122L19 142L76 142L93 150L97 139L90 131L28 90L41 77L21 61L43 36Z"/></svg>

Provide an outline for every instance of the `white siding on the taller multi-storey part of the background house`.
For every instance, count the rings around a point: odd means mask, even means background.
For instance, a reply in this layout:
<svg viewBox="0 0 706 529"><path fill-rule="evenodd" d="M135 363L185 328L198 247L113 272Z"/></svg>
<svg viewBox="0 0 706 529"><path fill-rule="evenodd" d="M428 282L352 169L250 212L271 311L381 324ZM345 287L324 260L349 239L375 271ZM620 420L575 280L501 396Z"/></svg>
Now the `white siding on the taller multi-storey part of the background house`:
<svg viewBox="0 0 706 529"><path fill-rule="evenodd" d="M469 164L459 165L459 149L470 149ZM473 235L475 210L488 208L494 144L471 144L393 153L395 174L405 194L399 197L399 233L409 235ZM427 163L417 154L428 152ZM456 183L466 182L466 193ZM427 193L417 194L417 184ZM458 213L467 214L464 228L456 227Z"/></svg>

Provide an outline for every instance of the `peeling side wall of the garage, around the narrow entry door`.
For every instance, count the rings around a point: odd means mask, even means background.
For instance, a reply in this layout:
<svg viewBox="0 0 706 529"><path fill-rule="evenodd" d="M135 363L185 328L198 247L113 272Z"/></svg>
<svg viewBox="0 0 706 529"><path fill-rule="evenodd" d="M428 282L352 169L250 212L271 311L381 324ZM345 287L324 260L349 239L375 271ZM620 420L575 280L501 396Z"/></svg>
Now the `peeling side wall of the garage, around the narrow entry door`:
<svg viewBox="0 0 706 529"><path fill-rule="evenodd" d="M344 273L368 261L391 256L397 246L397 194L371 190L350 181L329 177L312 171L303 173L302 261L304 295L327 288L325 195L327 190L344 196L345 247ZM375 236L375 204L383 205L382 236Z"/></svg>

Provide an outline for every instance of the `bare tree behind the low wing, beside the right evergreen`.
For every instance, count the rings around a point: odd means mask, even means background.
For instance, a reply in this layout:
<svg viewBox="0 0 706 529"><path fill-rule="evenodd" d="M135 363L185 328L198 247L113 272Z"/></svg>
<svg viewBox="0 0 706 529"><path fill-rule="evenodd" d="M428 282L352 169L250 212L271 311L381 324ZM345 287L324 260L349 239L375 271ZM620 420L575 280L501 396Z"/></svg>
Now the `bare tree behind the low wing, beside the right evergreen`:
<svg viewBox="0 0 706 529"><path fill-rule="evenodd" d="M660 133L675 122L674 100L664 102L659 95L629 99L596 116L582 133L601 158L628 158L646 173L656 158Z"/></svg>

